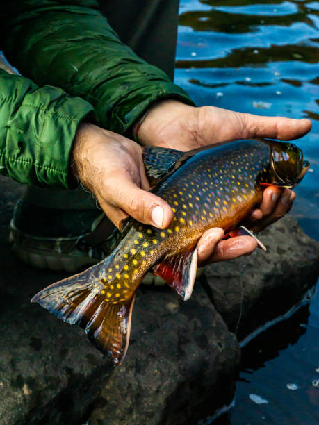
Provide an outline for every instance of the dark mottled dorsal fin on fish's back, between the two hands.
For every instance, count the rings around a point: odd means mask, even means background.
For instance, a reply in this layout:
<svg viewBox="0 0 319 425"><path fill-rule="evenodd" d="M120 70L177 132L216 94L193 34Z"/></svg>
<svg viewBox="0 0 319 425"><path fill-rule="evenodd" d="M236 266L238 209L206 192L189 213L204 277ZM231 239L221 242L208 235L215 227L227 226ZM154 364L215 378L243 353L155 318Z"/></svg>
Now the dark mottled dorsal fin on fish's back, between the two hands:
<svg viewBox="0 0 319 425"><path fill-rule="evenodd" d="M166 178L185 152L162 147L143 147L145 172L151 186Z"/></svg>

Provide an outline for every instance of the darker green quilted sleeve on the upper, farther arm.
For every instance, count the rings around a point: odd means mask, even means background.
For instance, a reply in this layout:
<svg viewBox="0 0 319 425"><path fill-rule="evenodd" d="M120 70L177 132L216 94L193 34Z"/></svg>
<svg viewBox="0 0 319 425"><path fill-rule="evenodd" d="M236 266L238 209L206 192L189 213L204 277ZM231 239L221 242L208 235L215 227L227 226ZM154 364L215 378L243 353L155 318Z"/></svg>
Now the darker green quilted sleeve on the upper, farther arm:
<svg viewBox="0 0 319 425"><path fill-rule="evenodd" d="M63 88L95 108L95 122L124 133L158 99L193 104L170 78L120 42L95 0L20 0L8 13L3 51L39 85Z"/></svg>

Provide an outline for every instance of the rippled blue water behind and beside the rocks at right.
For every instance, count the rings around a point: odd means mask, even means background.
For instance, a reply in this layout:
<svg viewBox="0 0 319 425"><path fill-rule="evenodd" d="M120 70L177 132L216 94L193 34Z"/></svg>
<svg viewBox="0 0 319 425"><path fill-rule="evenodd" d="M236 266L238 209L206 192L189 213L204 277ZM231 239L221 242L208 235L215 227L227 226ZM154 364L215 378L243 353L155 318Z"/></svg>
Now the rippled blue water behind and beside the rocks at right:
<svg viewBox="0 0 319 425"><path fill-rule="evenodd" d="M312 120L291 215L319 240L319 2L181 0L179 23L175 80L198 106ZM318 341L317 291L243 349L235 406L217 422L319 424Z"/></svg>

